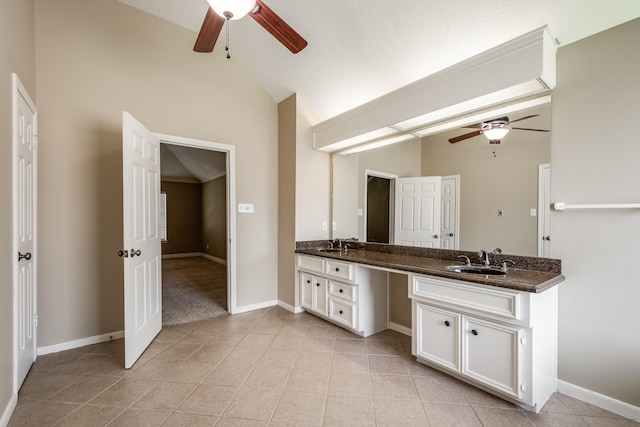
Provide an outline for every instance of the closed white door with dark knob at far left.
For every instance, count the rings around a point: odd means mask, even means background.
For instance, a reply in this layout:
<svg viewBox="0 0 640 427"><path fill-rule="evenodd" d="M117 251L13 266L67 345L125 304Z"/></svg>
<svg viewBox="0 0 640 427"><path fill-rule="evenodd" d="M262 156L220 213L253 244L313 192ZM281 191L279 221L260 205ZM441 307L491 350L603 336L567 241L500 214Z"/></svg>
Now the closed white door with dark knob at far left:
<svg viewBox="0 0 640 427"><path fill-rule="evenodd" d="M17 391L36 360L37 114L13 75L14 385Z"/></svg>

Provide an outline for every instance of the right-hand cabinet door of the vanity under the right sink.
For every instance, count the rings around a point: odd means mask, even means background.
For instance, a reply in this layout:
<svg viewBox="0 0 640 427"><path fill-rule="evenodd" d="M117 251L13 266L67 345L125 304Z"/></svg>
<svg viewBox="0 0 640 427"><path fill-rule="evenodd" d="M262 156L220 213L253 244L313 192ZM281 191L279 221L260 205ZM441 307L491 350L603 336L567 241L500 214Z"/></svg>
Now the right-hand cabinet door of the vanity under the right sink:
<svg viewBox="0 0 640 427"><path fill-rule="evenodd" d="M521 328L462 318L462 373L515 397L521 396Z"/></svg>

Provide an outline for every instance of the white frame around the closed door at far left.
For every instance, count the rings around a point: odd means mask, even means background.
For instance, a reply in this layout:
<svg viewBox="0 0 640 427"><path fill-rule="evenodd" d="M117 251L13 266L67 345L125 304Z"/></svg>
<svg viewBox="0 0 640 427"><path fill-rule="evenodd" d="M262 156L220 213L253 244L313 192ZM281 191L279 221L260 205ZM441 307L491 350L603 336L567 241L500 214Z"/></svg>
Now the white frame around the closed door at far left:
<svg viewBox="0 0 640 427"><path fill-rule="evenodd" d="M18 227L16 224L16 220L18 218L19 215L19 210L18 210L18 191L17 191L17 186L18 186L18 168L16 165L16 153L18 150L18 143L19 143L19 138L20 135L18 133L18 121L19 121L19 115L18 115L18 99L22 98L26 104L28 105L29 109L33 112L33 138L34 138L34 150L33 150L33 251L32 251L32 280L33 280L33 292L31 293L31 307L33 308L33 319L31 319L30 321L32 322L33 325L33 356L34 356L34 360L37 357L37 313L38 313L38 298L37 298L37 293L38 293L38 268L37 268L37 258L38 258L38 246L37 246L37 236L38 236L38 110L36 109L36 105L35 103L31 100L31 97L29 96L27 90L25 89L25 87L22 85L22 83L20 82L20 79L18 78L18 76L13 73L12 74L12 93L13 93L13 118L12 118L12 127L13 127L13 151L12 151L12 164L13 164L13 175L12 175L12 179L13 179L13 184L12 184L12 192L13 192L13 198L12 198L12 203L13 203L13 207L12 207L12 215L13 215L13 250L12 250L12 256L15 256L15 258L13 259L13 389L14 389L14 393L18 392L18 389L20 388L21 384L18 384L19 381L19 336L20 336L20 319L19 319L19 313L20 313L20 309L18 307L20 301L20 289L19 289L19 280L18 280L18 276L19 276L19 266L18 266Z"/></svg>

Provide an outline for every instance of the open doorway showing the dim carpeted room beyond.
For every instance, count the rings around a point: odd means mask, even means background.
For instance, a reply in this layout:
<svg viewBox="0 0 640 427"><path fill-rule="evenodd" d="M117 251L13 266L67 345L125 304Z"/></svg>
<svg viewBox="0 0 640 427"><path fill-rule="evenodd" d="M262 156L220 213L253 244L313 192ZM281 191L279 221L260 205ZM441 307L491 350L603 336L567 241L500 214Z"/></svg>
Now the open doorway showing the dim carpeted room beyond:
<svg viewBox="0 0 640 427"><path fill-rule="evenodd" d="M226 156L160 144L163 326L228 313Z"/></svg>

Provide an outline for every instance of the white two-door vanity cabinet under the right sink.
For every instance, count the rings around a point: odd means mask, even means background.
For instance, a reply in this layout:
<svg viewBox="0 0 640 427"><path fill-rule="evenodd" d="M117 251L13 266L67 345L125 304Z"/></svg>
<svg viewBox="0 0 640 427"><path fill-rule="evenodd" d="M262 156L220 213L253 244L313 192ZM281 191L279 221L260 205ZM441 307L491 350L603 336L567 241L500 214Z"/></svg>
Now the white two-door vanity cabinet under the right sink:
<svg viewBox="0 0 640 427"><path fill-rule="evenodd" d="M418 361L539 411L556 389L557 291L410 275Z"/></svg>

